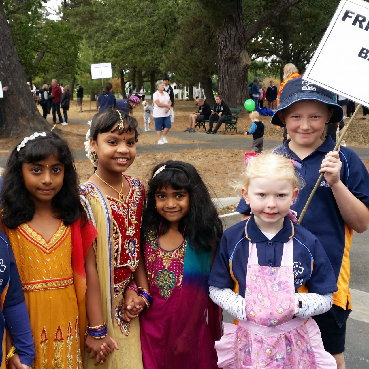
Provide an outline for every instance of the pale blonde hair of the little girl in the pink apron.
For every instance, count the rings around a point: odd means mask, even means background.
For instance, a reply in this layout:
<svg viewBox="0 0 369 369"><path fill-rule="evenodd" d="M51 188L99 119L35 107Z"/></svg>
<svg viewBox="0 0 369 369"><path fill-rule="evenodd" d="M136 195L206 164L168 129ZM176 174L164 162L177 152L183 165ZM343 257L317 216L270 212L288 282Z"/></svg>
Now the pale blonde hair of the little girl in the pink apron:
<svg viewBox="0 0 369 369"><path fill-rule="evenodd" d="M300 190L304 186L304 181L296 171L293 162L286 156L274 154L273 151L264 151L262 154L251 157L241 175L240 182L235 187L238 190L248 189L252 178L291 180L292 189Z"/></svg>

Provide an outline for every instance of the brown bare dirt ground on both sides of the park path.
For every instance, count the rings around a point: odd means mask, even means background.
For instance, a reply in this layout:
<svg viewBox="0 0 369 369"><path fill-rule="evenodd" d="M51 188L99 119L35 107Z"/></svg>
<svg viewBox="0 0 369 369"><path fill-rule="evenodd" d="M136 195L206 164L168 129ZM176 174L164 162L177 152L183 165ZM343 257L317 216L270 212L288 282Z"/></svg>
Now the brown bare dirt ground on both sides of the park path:
<svg viewBox="0 0 369 369"><path fill-rule="evenodd" d="M76 118L86 121L86 125L71 124L68 126L58 125L59 132L63 138L65 138L72 150L83 150L86 131L88 129L87 121L91 120L94 114L97 113L95 103L90 101L83 102L83 113L77 111L75 101L71 101L71 106L68 111L70 119ZM175 123L172 125L172 131L183 131L187 128L189 114L197 111L195 101L177 101L175 102ZM41 110L41 109L40 109ZM137 106L134 110L134 117L138 120L138 125L143 130L144 119L142 117L143 109L142 105ZM359 111L354 121L351 124L348 135L346 136L346 144L349 146L369 147L369 117L366 120L361 120L362 111ZM266 124L265 139L274 139L282 142L283 130L277 129L276 126L269 124L270 117L261 116L261 120ZM152 119L151 128L154 130L154 119ZM346 123L348 120L346 120ZM251 121L249 120L248 113L241 114L237 129L238 135L232 131L227 132L222 137L225 139L232 139L234 137L240 137L246 130L251 127ZM222 133L221 131L219 132ZM196 133L189 133L189 139L196 137ZM170 137L168 135L171 144L186 144L191 141ZM11 149L15 146L18 139L3 139L0 138L0 155L7 156ZM155 135L140 135L138 145L156 145ZM243 154L245 150L242 149L196 149L196 150L181 150L177 152L161 152L145 155L138 155L133 165L127 170L127 174L135 176L147 183L147 179L151 173L152 168L159 162L165 160L185 160L192 163L199 170L201 176L208 183L209 188L213 191L213 194L217 197L238 196L239 193L235 193L231 184L234 184L234 180L239 179L239 175L242 171L244 161ZM364 162L366 168L369 169L369 162ZM79 160L76 162L76 167L80 176L80 180L86 180L93 173L92 164L87 160Z"/></svg>

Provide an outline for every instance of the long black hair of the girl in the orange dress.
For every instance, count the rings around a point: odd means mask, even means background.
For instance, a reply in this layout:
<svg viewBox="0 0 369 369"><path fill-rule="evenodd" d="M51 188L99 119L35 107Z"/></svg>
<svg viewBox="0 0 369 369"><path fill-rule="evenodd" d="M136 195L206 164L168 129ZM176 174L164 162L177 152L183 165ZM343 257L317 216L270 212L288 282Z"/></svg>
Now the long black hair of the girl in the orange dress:
<svg viewBox="0 0 369 369"><path fill-rule="evenodd" d="M66 225L72 224L79 217L87 222L78 191L77 171L67 142L55 133L47 132L45 137L36 137L26 142L19 151L17 146L8 158L1 188L0 209L5 225L14 229L34 217L36 207L24 186L22 165L39 162L50 155L55 155L64 164L63 185L52 199L53 210L60 214Z"/></svg>

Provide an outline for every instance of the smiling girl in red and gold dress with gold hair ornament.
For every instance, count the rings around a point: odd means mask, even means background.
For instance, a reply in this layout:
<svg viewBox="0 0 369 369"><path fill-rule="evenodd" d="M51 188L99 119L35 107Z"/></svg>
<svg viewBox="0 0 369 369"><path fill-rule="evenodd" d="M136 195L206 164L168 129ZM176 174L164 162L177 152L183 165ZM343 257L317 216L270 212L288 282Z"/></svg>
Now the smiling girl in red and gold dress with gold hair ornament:
<svg viewBox="0 0 369 369"><path fill-rule="evenodd" d="M109 369L123 364L142 368L137 316L146 304L136 285L148 289L139 258L145 189L138 179L123 174L135 159L137 137L137 120L120 110L94 115L86 136L87 156L95 172L80 190L99 233L94 247L104 321L120 347L104 363Z"/></svg>

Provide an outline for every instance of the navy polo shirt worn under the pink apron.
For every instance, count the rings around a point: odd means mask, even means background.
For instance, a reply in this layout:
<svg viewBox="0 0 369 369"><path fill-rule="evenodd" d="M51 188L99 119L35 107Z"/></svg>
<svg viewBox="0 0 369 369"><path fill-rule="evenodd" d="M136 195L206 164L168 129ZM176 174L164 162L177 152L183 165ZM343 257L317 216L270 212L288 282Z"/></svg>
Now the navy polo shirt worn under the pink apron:
<svg viewBox="0 0 369 369"><path fill-rule="evenodd" d="M224 232L211 268L209 284L230 288L245 296L249 242L256 243L259 264L272 267L281 265L283 243L288 242L290 237L293 237L295 292L326 294L337 291L327 254L311 232L286 217L282 230L269 239L257 227L254 215Z"/></svg>

